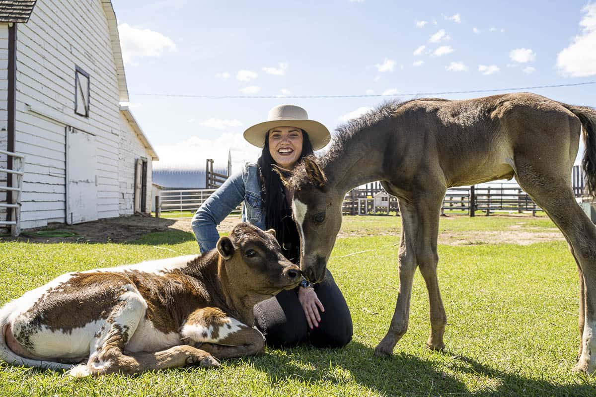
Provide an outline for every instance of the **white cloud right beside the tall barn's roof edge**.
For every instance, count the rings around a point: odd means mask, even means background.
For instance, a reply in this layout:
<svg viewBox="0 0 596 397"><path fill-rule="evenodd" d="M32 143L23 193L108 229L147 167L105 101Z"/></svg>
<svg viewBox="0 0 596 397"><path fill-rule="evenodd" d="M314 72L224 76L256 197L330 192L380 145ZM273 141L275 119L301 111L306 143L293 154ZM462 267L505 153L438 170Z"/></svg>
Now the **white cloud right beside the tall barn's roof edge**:
<svg viewBox="0 0 596 397"><path fill-rule="evenodd" d="M160 57L164 51L176 51L172 39L150 29L136 29L121 23L118 25L118 34L125 64L134 64L135 57Z"/></svg>

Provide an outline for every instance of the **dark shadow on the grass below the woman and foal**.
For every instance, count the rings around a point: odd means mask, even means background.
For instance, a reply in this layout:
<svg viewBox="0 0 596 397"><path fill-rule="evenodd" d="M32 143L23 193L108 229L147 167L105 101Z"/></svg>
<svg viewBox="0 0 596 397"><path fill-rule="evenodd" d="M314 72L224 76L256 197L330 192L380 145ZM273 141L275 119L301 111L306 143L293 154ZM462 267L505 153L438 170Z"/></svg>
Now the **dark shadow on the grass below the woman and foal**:
<svg viewBox="0 0 596 397"><path fill-rule="evenodd" d="M241 361L228 361L237 365ZM271 386L288 380L305 385L331 382L336 385L353 380L374 393L383 395L473 395L473 396L594 396L596 386L578 375L576 385L559 385L546 380L530 379L505 373L462 356L448 363L424 360L412 355L396 354L391 358L373 357L373 349L350 342L343 349L294 348L281 354L254 357L249 362L269 373ZM455 375L454 375L455 373ZM474 377L486 385L470 391L458 374Z"/></svg>

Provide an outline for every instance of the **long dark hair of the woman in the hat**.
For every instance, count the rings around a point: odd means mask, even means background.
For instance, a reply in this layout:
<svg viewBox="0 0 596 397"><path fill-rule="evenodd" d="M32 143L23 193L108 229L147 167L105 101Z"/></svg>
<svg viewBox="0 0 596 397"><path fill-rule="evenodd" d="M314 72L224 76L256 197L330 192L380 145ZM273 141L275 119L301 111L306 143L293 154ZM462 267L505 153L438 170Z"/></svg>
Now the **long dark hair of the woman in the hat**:
<svg viewBox="0 0 596 397"><path fill-rule="evenodd" d="M302 130L302 154L298 158L313 154L311 140L308 133ZM275 229L277 240L285 241L285 230L282 218L287 215L288 204L284 199L284 187L280 176L273 170L275 161L269 153L269 133L265 135L265 146L259 157L259 174L261 179L261 198L264 201L263 210L265 210L265 227Z"/></svg>

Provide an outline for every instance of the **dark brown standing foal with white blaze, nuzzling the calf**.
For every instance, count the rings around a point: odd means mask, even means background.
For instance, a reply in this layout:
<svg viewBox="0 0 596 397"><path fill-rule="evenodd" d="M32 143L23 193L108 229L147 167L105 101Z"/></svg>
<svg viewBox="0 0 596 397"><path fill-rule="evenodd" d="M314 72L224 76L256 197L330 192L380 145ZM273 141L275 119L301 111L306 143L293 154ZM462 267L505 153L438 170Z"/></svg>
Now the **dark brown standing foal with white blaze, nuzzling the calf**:
<svg viewBox="0 0 596 397"><path fill-rule="evenodd" d="M596 191L596 111L512 93L465 101L389 102L338 129L319 160L294 173L280 170L295 190L293 214L302 236L302 271L321 281L353 187L380 180L399 198L402 237L399 293L389 332L375 355L393 352L408 329L416 267L430 298L428 346L443 349L446 315L437 281L437 233L446 189L516 178L561 230L578 265L579 329L575 370L596 370L596 227L579 208L571 169L583 126L587 187Z"/></svg>

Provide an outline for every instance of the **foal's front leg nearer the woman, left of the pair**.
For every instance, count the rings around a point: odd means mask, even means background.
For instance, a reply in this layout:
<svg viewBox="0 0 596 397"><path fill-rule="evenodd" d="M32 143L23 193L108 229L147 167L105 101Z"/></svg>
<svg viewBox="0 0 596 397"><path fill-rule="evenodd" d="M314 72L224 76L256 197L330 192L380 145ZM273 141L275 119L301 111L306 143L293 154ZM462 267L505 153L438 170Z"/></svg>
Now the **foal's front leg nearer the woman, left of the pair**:
<svg viewBox="0 0 596 397"><path fill-rule="evenodd" d="M416 271L415 240L418 233L418 221L415 206L399 199L399 211L402 215L402 237L399 243L399 290L395 312L387 335L381 340L374 355L388 357L393 348L408 330L409 305L412 295L412 280Z"/></svg>

